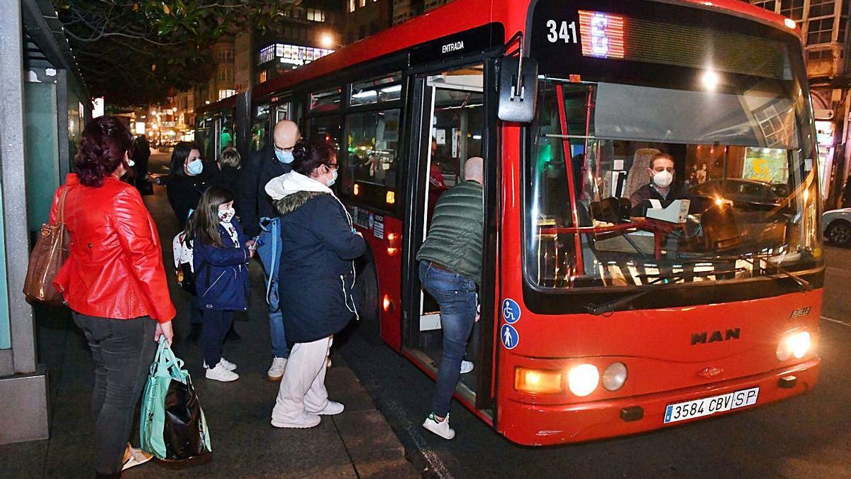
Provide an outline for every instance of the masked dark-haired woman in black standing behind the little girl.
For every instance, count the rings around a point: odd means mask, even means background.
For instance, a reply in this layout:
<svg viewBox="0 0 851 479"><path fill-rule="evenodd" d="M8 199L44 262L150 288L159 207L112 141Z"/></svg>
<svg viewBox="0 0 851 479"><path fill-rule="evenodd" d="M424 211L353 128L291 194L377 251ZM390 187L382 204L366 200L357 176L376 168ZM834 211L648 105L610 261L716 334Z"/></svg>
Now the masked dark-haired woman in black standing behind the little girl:
<svg viewBox="0 0 851 479"><path fill-rule="evenodd" d="M186 228L189 212L197 208L201 195L209 185L208 175L204 174L201 150L195 143L180 141L171 152L171 173L166 185L168 203L177 216L180 229Z"/></svg>

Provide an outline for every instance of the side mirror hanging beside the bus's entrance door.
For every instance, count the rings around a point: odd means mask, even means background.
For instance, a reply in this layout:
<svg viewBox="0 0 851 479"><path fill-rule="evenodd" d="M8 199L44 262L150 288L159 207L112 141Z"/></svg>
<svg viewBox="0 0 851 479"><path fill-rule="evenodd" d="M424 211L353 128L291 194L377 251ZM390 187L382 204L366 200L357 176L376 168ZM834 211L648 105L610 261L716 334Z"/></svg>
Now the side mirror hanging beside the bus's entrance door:
<svg viewBox="0 0 851 479"><path fill-rule="evenodd" d="M497 117L502 121L529 123L534 119L538 100L538 62L520 56L500 59L500 104Z"/></svg>

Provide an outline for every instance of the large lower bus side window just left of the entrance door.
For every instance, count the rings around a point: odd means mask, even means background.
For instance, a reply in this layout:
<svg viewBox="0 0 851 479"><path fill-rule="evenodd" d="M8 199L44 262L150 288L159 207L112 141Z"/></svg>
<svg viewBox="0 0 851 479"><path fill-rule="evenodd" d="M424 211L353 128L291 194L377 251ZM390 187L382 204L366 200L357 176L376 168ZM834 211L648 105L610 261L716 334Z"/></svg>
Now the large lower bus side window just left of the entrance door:
<svg viewBox="0 0 851 479"><path fill-rule="evenodd" d="M386 209L386 191L396 189L399 147L399 110L346 115L346 158L340 159L342 188L354 199L355 183L375 185L370 197L376 207Z"/></svg>

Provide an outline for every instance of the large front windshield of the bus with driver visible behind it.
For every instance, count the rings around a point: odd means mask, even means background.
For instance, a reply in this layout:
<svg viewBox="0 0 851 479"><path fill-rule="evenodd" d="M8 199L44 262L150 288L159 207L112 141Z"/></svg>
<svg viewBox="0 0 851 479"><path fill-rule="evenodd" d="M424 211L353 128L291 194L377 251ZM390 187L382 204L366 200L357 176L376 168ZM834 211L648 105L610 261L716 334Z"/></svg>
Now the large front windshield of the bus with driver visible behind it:
<svg viewBox="0 0 851 479"><path fill-rule="evenodd" d="M530 284L745 280L820 263L802 74L676 72L540 79L524 181Z"/></svg>

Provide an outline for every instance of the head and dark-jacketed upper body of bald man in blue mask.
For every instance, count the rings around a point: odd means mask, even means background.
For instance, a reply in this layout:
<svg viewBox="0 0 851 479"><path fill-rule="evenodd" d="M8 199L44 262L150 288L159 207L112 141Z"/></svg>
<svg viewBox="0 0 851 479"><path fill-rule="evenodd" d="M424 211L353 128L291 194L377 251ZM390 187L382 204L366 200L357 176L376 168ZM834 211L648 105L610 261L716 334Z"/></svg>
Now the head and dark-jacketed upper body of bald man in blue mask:
<svg viewBox="0 0 851 479"><path fill-rule="evenodd" d="M236 209L248 237L260 234L260 218L277 216L264 188L272 178L293 169L293 147L300 139L298 124L290 120L279 121L272 130L271 144L252 154L243 167L240 188L243 198L237 198Z"/></svg>

